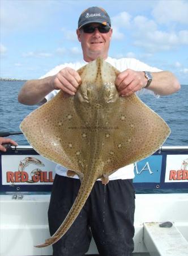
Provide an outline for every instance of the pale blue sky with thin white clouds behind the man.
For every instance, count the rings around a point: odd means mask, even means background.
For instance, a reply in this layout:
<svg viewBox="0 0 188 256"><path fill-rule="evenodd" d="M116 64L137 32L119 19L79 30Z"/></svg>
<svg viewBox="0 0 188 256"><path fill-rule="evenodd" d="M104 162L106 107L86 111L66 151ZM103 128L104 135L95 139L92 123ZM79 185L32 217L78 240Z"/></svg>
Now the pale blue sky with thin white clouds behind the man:
<svg viewBox="0 0 188 256"><path fill-rule="evenodd" d="M38 79L57 65L82 60L76 28L91 6L111 18L110 57L138 59L188 84L187 0L0 0L0 77Z"/></svg>

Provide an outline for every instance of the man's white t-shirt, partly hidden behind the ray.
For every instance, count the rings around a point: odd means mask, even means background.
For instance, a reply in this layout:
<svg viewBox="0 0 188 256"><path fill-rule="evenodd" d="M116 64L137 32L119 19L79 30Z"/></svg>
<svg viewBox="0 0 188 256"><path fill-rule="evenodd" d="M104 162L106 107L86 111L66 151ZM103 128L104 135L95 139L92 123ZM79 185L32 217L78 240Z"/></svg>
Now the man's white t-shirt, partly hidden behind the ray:
<svg viewBox="0 0 188 256"><path fill-rule="evenodd" d="M134 71L150 71L150 72L161 71L160 69L150 67L149 65L142 63L141 61L136 59L128 59L128 58L113 59L111 57L108 57L106 61L121 72L125 71L128 68L133 69ZM86 64L88 63L84 60L76 63L65 63L53 68L51 71L46 73L46 75L40 77L40 79L43 79L48 76L53 76L65 67L70 67L72 69L78 70L79 68L83 67ZM53 92L50 92L48 95L46 95L45 97L46 100L47 101L51 100L58 92L59 90L53 90ZM142 94L152 94L155 97L159 97L159 95L155 94L151 90L144 89L144 88L136 92L137 96L140 96ZM58 175L67 176L67 168L60 166L59 164L57 164L57 166L55 167L55 171ZM78 179L79 177L78 175L75 175L74 178ZM116 172L114 172L112 175L109 176L109 180L133 179L133 178L134 178L134 164L129 164L129 166L119 168Z"/></svg>

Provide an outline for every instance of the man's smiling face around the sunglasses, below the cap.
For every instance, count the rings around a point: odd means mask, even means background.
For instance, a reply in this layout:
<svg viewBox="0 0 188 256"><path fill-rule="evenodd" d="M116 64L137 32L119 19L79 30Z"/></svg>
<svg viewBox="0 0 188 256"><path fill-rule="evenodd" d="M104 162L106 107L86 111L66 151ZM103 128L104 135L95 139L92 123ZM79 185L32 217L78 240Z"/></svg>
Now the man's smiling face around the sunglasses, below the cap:
<svg viewBox="0 0 188 256"><path fill-rule="evenodd" d="M99 23L90 23L87 26L98 27ZM76 31L78 40L82 45L84 60L92 61L101 56L104 59L108 57L110 39L112 37L112 28L107 33L99 32L98 28L91 34L85 33L83 29Z"/></svg>

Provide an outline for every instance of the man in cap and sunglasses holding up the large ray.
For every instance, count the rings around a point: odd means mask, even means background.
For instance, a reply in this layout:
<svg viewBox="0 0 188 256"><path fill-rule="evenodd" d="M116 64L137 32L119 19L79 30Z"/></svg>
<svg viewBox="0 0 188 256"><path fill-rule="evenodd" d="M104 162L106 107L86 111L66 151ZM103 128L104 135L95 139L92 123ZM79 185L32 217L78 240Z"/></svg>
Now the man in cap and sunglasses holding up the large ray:
<svg viewBox="0 0 188 256"><path fill-rule="evenodd" d="M40 80L27 81L19 93L19 102L26 105L41 104L54 97L59 89L71 96L75 95L82 82L76 70L99 56L121 71L115 81L121 97L135 92L168 95L180 89L176 77L168 71L160 71L135 59L116 60L108 57L113 30L104 9L90 7L84 10L76 33L82 46L83 61L61 65ZM53 245L53 255L84 255L91 241L91 232L100 255L131 255L134 249L133 177L134 168L131 164L110 175L106 186L97 181L74 224ZM67 177L67 169L57 166L48 212L51 235L69 212L79 186L78 177Z"/></svg>

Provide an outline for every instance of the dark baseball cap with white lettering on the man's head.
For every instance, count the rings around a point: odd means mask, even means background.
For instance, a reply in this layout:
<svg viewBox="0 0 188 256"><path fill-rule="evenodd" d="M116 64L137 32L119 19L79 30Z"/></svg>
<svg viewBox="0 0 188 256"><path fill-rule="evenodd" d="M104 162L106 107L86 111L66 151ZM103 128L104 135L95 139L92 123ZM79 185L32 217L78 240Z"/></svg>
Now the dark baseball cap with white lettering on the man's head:
<svg viewBox="0 0 188 256"><path fill-rule="evenodd" d="M108 13L106 13L106 11L101 7L94 6L89 7L82 12L78 20L78 28L80 29L84 25L94 22L111 27L111 21Z"/></svg>

